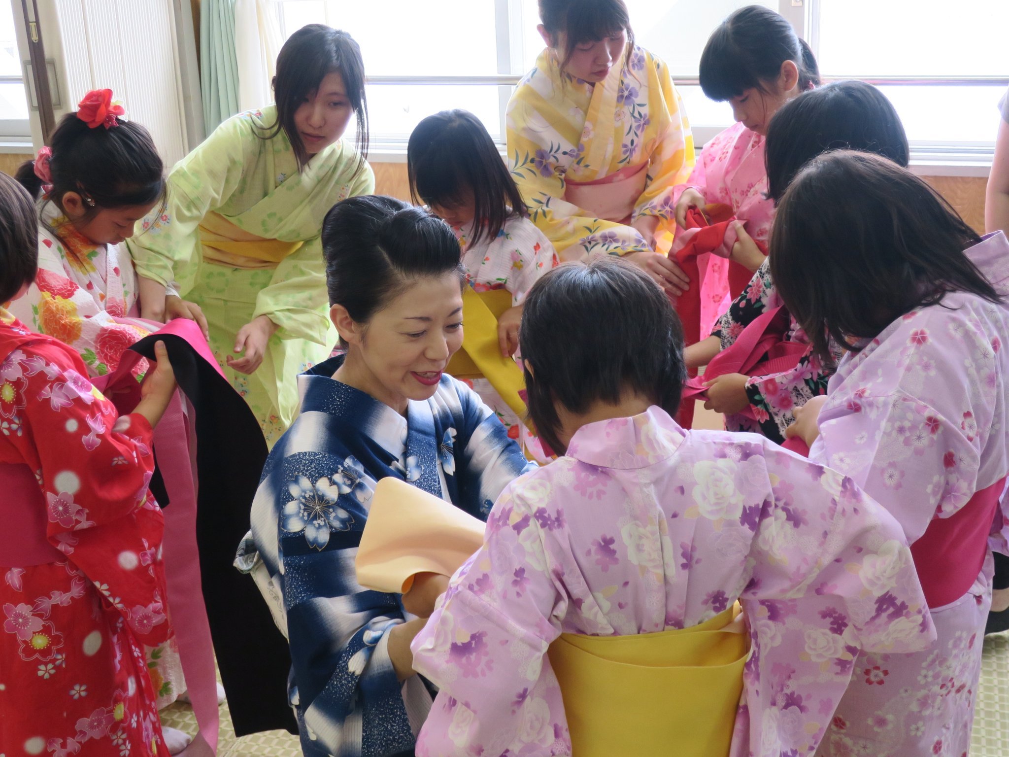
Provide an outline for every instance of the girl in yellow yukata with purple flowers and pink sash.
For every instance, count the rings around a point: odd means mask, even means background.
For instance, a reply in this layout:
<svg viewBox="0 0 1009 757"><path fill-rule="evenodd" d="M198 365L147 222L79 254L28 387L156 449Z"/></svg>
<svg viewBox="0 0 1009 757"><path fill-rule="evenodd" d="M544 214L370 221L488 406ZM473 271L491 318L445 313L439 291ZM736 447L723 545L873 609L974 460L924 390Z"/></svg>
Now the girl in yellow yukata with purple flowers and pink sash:
<svg viewBox="0 0 1009 757"><path fill-rule="evenodd" d="M624 0L540 0L547 48L508 106L508 156L561 260L627 255L667 292L689 279L656 252L693 137L666 65L635 44Z"/></svg>

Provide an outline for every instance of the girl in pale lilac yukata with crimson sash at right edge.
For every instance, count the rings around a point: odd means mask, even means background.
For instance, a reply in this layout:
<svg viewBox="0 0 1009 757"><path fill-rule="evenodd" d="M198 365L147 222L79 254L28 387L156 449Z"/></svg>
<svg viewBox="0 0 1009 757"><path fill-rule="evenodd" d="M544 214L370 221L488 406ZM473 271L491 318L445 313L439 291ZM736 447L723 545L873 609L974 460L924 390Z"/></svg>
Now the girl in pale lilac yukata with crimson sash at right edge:
<svg viewBox="0 0 1009 757"><path fill-rule="evenodd" d="M891 161L848 151L807 166L776 223L782 299L819 355L828 338L849 349L789 434L900 521L938 635L914 655L860 653L823 754L963 757L992 550L1009 551L1009 242L980 238Z"/></svg>

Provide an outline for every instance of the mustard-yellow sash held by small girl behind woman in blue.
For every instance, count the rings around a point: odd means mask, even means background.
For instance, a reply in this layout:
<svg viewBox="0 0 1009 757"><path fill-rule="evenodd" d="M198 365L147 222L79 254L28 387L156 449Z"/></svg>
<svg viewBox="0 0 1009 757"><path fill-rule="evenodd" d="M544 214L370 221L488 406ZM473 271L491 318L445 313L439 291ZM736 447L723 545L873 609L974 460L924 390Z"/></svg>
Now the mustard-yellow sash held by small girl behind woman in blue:
<svg viewBox="0 0 1009 757"><path fill-rule="evenodd" d="M486 379L512 411L524 418L526 403L519 392L526 385L522 369L511 357L502 357L497 343L497 318L512 307L507 289L462 292L462 348L452 355L445 368L456 379Z"/></svg>

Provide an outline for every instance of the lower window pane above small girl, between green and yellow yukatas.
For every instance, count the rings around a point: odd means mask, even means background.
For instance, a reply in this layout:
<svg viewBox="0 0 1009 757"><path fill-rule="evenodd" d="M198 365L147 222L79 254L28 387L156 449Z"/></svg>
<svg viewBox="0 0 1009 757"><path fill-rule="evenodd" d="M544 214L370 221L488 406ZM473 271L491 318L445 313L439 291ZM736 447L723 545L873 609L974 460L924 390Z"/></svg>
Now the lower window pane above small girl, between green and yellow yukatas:
<svg viewBox="0 0 1009 757"><path fill-rule="evenodd" d="M372 139L403 138L421 119L449 108L465 108L501 139L496 87L373 84L367 97Z"/></svg>

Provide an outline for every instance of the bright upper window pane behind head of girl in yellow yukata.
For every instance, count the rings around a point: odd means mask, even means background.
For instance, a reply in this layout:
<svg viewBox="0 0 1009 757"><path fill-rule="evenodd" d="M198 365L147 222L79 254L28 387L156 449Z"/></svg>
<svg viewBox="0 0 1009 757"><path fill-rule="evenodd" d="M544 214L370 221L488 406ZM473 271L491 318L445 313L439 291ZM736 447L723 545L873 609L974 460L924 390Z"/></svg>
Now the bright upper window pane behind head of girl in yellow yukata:
<svg viewBox="0 0 1009 757"><path fill-rule="evenodd" d="M748 0L626 0L631 28L638 43L669 65L673 76L697 76L701 50L714 27L733 11L746 5L778 9L777 0L753 3ZM543 51L543 39L536 30L540 22L537 0L522 0L523 69L533 68ZM518 72L516 72L518 73Z"/></svg>

